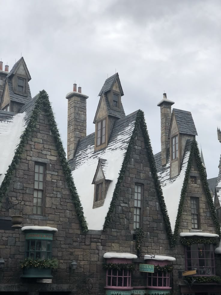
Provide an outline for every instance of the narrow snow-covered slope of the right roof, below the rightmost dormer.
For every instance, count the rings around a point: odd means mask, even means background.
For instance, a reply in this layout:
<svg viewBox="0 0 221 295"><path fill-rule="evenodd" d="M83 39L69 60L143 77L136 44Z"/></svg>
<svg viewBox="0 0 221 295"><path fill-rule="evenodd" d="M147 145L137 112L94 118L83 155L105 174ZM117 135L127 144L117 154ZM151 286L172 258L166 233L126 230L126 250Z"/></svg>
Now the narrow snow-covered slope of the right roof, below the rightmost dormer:
<svg viewBox="0 0 221 295"><path fill-rule="evenodd" d="M174 232L174 227L177 218L178 207L180 203L181 190L183 187L183 181L186 174L186 168L189 160L189 147L191 142L186 143L186 150L183 156L183 162L180 170L180 174L176 177L170 178L170 160L168 163L162 167L161 165L161 154L155 155L156 162L158 163L158 177L163 191L163 197L168 211L168 216L170 218L171 229ZM159 168L159 166L161 168Z"/></svg>

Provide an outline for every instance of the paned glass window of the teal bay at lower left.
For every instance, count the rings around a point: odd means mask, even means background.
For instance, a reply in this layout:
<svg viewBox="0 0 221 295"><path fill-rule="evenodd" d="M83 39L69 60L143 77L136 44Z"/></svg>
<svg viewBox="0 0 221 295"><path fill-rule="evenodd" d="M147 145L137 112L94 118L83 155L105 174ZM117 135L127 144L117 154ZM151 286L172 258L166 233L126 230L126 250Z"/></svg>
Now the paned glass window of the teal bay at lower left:
<svg viewBox="0 0 221 295"><path fill-rule="evenodd" d="M45 234L44 234L45 235ZM32 259L50 259L52 253L52 241L26 240L25 257Z"/></svg>

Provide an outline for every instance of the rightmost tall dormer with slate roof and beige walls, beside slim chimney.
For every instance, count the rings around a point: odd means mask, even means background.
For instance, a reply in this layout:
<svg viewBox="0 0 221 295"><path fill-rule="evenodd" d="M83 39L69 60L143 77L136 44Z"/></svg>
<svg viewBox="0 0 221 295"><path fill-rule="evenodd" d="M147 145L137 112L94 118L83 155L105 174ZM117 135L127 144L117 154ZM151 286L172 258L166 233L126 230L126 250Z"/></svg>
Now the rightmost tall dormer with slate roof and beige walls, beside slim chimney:
<svg viewBox="0 0 221 295"><path fill-rule="evenodd" d="M191 112L173 109L168 138L170 140L170 177L180 174L187 140L197 135Z"/></svg>

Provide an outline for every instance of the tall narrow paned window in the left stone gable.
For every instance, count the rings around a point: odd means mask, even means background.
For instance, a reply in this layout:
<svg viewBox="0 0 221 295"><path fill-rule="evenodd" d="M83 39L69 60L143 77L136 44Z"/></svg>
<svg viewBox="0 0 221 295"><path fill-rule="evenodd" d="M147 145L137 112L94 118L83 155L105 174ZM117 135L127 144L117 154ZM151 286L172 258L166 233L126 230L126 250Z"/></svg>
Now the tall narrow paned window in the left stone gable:
<svg viewBox="0 0 221 295"><path fill-rule="evenodd" d="M42 199L44 192L44 166L35 164L35 184L33 198L33 214L42 214Z"/></svg>

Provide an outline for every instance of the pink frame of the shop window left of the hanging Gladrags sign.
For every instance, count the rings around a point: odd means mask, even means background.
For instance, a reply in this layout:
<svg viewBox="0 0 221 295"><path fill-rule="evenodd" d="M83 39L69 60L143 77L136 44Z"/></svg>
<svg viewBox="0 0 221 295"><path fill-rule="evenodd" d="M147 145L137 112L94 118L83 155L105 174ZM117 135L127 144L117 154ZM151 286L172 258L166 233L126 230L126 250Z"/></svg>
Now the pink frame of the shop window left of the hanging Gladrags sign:
<svg viewBox="0 0 221 295"><path fill-rule="evenodd" d="M113 271L117 272L117 275L113 275ZM111 272L111 274L109 274ZM122 275L119 275L119 272L122 272ZM125 275L125 272L127 272L127 275ZM111 284L108 285L108 278L111 278ZM113 278L117 278L117 283L116 286L112 285ZM122 286L117 286L118 285L118 278L122 278ZM127 285L124 286L124 278L127 278ZM107 269L106 273L106 287L109 289L126 289L126 288L131 288L131 271L127 269Z"/></svg>

